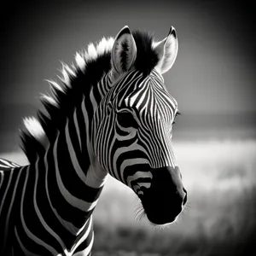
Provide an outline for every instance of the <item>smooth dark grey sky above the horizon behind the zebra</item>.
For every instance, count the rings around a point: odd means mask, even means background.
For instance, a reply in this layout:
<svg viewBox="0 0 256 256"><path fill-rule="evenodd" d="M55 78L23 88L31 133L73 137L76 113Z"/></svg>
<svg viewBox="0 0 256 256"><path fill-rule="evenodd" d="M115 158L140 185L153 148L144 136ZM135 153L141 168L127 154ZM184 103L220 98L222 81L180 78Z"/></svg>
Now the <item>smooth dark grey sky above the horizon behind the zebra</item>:
<svg viewBox="0 0 256 256"><path fill-rule="evenodd" d="M8 15L4 15L8 13ZM7 3L1 8L0 131L40 108L44 79L61 62L128 25L166 37L179 49L166 87L182 113L256 113L253 1L82 1Z"/></svg>

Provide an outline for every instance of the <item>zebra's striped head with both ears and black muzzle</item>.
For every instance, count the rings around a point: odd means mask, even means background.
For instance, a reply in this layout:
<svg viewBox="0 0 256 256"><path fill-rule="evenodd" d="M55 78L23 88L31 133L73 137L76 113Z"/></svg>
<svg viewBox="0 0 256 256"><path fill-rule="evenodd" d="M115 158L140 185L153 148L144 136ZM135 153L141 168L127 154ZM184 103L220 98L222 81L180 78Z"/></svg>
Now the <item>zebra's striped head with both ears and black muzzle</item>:
<svg viewBox="0 0 256 256"><path fill-rule="evenodd" d="M172 151L177 102L162 77L176 56L173 27L155 43L125 26L113 42L111 82L95 113L97 160L134 190L153 224L172 223L187 200Z"/></svg>

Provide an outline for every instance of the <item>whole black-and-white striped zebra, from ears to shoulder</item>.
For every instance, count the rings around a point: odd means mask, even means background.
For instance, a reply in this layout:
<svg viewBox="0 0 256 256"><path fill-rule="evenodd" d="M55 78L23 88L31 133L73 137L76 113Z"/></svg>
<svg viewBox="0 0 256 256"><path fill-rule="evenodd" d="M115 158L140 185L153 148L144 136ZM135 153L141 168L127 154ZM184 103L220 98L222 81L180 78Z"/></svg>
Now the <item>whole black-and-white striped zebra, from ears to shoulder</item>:
<svg viewBox="0 0 256 256"><path fill-rule="evenodd" d="M90 255L108 175L134 191L150 223L177 219L187 201L172 150L179 111L162 76L177 48L173 26L159 42L124 26L61 63L44 109L20 130L29 164L0 161L0 255Z"/></svg>

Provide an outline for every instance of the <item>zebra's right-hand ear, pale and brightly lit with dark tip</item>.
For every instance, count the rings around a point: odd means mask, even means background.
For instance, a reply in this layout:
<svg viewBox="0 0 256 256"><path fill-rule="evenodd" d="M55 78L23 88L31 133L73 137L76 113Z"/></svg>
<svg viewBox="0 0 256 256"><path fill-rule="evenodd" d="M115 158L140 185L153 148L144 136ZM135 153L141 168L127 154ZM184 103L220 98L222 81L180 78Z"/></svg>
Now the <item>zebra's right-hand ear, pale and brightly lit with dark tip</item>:
<svg viewBox="0 0 256 256"><path fill-rule="evenodd" d="M168 36L157 43L154 43L159 62L155 69L160 73L166 73L173 65L177 56L177 34L175 28L171 26Z"/></svg>

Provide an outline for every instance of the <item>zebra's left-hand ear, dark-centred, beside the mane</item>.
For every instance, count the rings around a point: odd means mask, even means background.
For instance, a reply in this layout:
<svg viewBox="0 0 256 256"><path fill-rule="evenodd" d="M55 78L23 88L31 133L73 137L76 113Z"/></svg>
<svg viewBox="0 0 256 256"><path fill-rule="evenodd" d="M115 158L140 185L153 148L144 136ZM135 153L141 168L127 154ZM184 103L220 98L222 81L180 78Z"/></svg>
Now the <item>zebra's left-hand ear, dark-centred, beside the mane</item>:
<svg viewBox="0 0 256 256"><path fill-rule="evenodd" d="M128 71L136 60L137 47L128 26L124 26L113 42L111 53L112 72L120 75Z"/></svg>

